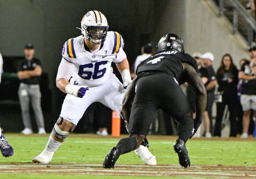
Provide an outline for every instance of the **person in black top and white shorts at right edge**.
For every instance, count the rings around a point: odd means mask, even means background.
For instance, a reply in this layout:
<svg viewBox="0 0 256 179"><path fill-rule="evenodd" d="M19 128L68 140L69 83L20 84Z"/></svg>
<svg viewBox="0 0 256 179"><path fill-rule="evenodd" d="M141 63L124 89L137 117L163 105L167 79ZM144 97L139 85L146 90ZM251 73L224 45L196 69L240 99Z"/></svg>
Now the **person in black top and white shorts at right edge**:
<svg viewBox="0 0 256 179"><path fill-rule="evenodd" d="M241 104L243 114L243 133L241 138L248 138L251 109L256 116L256 45L249 48L250 61L246 61L238 74L238 78L243 80L241 91Z"/></svg>

